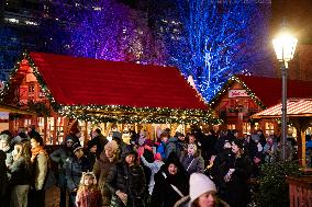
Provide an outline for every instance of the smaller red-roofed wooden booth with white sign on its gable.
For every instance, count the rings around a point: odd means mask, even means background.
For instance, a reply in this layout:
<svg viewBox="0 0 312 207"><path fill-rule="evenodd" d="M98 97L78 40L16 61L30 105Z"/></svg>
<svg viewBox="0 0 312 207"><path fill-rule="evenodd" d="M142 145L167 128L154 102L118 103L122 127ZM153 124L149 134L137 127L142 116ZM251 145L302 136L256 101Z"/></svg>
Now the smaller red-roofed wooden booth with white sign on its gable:
<svg viewBox="0 0 312 207"><path fill-rule="evenodd" d="M312 81L288 80L288 97L312 97ZM215 116L223 119L221 128L237 129L243 134L263 129L267 135L279 135L278 123L271 118L253 119L250 116L280 103L281 79L237 74L229 79L211 100Z"/></svg>

